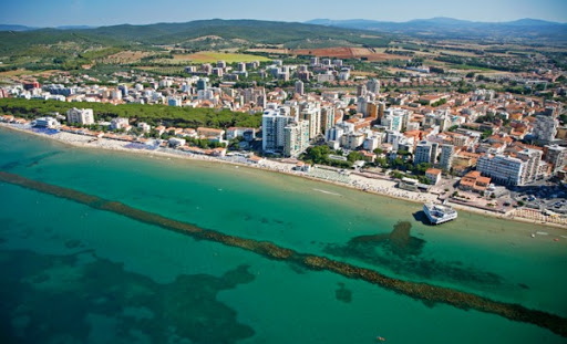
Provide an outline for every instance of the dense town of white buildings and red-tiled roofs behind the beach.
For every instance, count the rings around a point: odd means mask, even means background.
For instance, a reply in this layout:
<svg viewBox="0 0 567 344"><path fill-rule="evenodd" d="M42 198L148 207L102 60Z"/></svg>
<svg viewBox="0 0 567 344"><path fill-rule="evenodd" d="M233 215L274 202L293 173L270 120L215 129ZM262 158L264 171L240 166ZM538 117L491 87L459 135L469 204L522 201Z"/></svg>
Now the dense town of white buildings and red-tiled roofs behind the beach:
<svg viewBox="0 0 567 344"><path fill-rule="evenodd" d="M561 103L484 88L424 94L392 91L392 86L405 85L406 81L353 77L352 70L339 59L311 58L298 65L281 60L233 65L218 61L187 66L186 77L121 72L117 75L131 82L97 86L86 75L60 77L43 86L25 83L2 87L1 94L30 100L261 113L259 128L229 127L226 133L214 128L154 127L144 122L131 124L128 118L112 118L106 126L138 135L173 134L178 138L227 144L239 140L238 147L248 149L258 142L258 154L285 157L300 157L310 146L327 145L334 156L360 152L370 165L379 165L372 163L378 158L390 168L395 168L394 161L400 159L414 168L429 166L434 174L425 174L423 181L431 184L439 181L433 177L437 175L467 175L492 178L491 183L499 185L522 186L553 177L565 168L567 131L558 119L565 113ZM421 73L422 81L439 79L425 70L411 72ZM256 82L237 85L251 74L289 83L281 87ZM313 86L320 88L323 83L340 82L351 88L306 92ZM66 119L70 125L101 124L89 108L72 108ZM174 139L171 144L185 146L190 142L181 144ZM480 175L472 176L472 171ZM480 184L473 179L470 189L484 187L486 179L480 179Z"/></svg>

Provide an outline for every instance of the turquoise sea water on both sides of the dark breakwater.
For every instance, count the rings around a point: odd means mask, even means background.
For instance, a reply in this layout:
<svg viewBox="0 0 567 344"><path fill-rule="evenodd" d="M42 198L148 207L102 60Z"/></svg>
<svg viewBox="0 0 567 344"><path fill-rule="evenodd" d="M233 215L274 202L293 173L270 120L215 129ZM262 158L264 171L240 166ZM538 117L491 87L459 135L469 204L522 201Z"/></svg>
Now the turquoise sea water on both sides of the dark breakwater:
<svg viewBox="0 0 567 344"><path fill-rule="evenodd" d="M214 163L81 149L0 128L0 170L386 275L567 316L561 229ZM322 192L322 191L324 192ZM2 343L565 343L0 183ZM412 226L408 244L388 240ZM534 231L549 236L537 236ZM363 241L362 236L384 240ZM359 240L357 240L359 238Z"/></svg>

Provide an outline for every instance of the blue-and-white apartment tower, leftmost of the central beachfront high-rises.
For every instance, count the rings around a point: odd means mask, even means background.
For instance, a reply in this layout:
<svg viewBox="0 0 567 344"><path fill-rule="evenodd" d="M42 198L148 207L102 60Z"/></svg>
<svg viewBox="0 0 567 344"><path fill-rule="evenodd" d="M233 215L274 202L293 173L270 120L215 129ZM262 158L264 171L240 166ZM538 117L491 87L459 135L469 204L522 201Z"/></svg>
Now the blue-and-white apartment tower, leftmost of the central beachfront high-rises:
<svg viewBox="0 0 567 344"><path fill-rule="evenodd" d="M261 149L264 152L282 152L285 128L293 117L280 110L265 111L261 116Z"/></svg>

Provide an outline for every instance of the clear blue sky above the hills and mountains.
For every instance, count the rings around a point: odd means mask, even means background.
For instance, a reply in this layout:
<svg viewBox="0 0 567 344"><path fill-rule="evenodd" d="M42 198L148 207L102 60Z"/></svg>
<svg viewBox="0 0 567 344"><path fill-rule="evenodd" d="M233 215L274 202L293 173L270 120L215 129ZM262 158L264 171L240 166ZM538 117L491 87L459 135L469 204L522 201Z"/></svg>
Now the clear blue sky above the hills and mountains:
<svg viewBox="0 0 567 344"><path fill-rule="evenodd" d="M567 21L567 0L2 0L0 23L31 27L185 22L198 19L306 21L316 18Z"/></svg>

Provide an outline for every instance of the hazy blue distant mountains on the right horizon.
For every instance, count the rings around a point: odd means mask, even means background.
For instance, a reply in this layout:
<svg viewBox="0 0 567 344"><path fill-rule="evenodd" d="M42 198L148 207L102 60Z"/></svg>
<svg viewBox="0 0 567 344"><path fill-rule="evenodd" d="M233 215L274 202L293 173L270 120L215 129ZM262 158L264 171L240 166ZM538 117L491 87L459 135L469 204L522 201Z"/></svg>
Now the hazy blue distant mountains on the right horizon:
<svg viewBox="0 0 567 344"><path fill-rule="evenodd" d="M476 22L453 18L415 19L406 22L374 21L365 19L315 19L307 23L419 35L424 38L461 39L561 39L567 40L567 23L539 19L519 19L508 22Z"/></svg>

